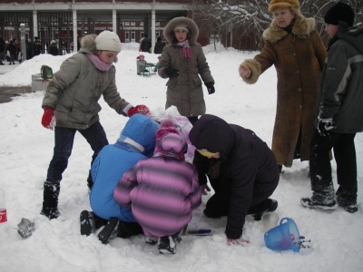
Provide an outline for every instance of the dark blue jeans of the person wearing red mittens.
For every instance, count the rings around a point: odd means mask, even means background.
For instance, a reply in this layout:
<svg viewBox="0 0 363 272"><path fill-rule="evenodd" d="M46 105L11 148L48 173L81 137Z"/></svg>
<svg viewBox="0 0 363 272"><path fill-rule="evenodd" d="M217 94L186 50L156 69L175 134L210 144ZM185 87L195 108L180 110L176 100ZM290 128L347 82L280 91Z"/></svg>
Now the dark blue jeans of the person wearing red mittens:
<svg viewBox="0 0 363 272"><path fill-rule="evenodd" d="M103 149L103 146L108 144L106 133L104 132L100 121L96 121L86 130L55 127L54 155L53 159L49 163L48 174L46 177L47 181L58 183L62 180L62 174L67 168L69 157L71 157L74 146L74 134L76 131L82 134L93 150L91 165L98 153Z"/></svg>

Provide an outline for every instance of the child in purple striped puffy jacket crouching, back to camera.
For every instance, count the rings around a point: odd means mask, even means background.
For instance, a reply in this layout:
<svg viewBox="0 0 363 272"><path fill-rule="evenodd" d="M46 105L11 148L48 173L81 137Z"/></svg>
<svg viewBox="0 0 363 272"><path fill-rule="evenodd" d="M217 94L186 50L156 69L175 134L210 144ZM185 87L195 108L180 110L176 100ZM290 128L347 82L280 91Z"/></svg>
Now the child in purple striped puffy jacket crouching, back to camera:
<svg viewBox="0 0 363 272"><path fill-rule="evenodd" d="M153 157L126 171L113 193L117 203L132 207L146 242L155 244L153 238L158 238L162 254L176 253L179 232L191 221L192 210L201 205L197 170L184 160L187 148L173 122L162 121Z"/></svg>

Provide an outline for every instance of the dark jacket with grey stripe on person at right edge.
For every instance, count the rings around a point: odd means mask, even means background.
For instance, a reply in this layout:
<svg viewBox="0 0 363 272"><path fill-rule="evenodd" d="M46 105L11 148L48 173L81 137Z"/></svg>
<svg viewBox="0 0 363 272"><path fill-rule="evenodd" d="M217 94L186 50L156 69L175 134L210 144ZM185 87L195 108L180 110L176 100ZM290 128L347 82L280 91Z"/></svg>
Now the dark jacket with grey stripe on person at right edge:
<svg viewBox="0 0 363 272"><path fill-rule="evenodd" d="M363 28L339 22L321 73L317 116L332 118L336 133L363 131ZM315 121L317 126L318 119Z"/></svg>

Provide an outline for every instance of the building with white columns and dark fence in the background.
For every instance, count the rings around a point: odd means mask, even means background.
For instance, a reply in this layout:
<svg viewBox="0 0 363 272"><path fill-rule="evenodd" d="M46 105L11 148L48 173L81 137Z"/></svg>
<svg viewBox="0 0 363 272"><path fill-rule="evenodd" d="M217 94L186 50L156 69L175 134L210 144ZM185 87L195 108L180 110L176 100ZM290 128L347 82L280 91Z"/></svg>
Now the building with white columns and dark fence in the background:
<svg viewBox="0 0 363 272"><path fill-rule="evenodd" d="M192 0L1 0L0 35L6 40L39 37L42 53L52 40L60 54L78 51L86 34L103 30L123 43L139 43L148 34L153 44L176 16L187 16ZM25 25L21 36L20 24ZM205 45L205 44L204 44Z"/></svg>

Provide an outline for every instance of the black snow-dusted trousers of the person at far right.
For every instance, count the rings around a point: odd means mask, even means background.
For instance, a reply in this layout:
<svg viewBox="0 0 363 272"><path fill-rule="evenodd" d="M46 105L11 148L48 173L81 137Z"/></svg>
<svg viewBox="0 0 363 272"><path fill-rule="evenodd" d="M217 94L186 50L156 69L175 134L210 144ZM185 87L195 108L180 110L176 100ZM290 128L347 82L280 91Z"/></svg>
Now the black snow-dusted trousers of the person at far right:
<svg viewBox="0 0 363 272"><path fill-rule="evenodd" d="M320 136L316 130L311 140L309 168L311 189L319 190L321 186L329 185L331 165L329 151L333 149L337 162L337 194L357 194L357 160L354 137L356 133L333 133L330 139Z"/></svg>

